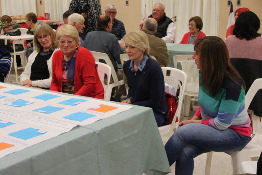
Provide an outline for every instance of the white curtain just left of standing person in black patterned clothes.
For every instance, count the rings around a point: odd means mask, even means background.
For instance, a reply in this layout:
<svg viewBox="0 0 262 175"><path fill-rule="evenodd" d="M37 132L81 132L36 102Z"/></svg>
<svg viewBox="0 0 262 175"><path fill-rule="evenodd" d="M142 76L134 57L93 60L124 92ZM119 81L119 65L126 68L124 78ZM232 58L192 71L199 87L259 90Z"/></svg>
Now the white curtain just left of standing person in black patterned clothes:
<svg viewBox="0 0 262 175"><path fill-rule="evenodd" d="M69 9L71 0L45 0L45 13L50 13L51 20L63 21L63 13Z"/></svg>

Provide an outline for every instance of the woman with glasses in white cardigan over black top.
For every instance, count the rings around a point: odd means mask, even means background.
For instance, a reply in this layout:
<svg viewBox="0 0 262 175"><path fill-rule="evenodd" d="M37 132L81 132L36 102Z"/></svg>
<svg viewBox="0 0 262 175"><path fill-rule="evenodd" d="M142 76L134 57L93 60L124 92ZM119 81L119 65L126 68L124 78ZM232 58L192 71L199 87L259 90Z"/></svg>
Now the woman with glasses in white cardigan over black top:
<svg viewBox="0 0 262 175"><path fill-rule="evenodd" d="M49 89L52 80L52 57L58 50L56 34L48 24L39 24L34 32L36 50L29 56L20 75L23 86Z"/></svg>

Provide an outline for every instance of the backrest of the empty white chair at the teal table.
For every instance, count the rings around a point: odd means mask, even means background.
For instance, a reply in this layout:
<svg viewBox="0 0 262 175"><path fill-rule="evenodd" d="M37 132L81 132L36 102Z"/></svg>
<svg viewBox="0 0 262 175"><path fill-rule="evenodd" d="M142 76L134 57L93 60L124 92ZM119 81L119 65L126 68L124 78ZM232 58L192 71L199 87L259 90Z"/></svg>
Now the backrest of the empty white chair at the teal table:
<svg viewBox="0 0 262 175"><path fill-rule="evenodd" d="M187 87L186 91L198 93L199 91L199 69L193 55L175 55L173 57L175 68L178 63L181 64L182 71L187 74Z"/></svg>

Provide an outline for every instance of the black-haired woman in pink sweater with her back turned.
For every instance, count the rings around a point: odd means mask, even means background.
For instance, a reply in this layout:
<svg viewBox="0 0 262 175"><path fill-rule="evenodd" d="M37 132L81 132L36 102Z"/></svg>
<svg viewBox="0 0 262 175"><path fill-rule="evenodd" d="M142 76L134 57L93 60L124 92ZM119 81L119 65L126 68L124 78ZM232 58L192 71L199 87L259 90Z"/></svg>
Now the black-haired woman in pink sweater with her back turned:
<svg viewBox="0 0 262 175"><path fill-rule="evenodd" d="M230 58L251 58L262 60L262 37L257 31L260 20L257 15L247 11L239 15L233 30L234 35L226 38Z"/></svg>

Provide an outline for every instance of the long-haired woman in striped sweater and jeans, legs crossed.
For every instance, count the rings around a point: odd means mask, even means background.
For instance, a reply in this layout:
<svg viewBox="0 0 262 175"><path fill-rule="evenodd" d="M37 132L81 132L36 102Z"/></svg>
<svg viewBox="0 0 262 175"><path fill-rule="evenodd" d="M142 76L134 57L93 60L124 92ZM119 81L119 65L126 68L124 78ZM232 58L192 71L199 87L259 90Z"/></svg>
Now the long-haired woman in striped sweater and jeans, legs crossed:
<svg viewBox="0 0 262 175"><path fill-rule="evenodd" d="M251 140L245 83L231 65L224 41L206 36L194 50L200 106L191 120L178 124L165 145L170 166L176 162L176 174L193 174L193 159L202 153L239 151Z"/></svg>

